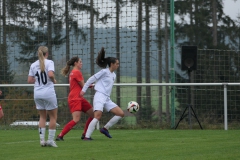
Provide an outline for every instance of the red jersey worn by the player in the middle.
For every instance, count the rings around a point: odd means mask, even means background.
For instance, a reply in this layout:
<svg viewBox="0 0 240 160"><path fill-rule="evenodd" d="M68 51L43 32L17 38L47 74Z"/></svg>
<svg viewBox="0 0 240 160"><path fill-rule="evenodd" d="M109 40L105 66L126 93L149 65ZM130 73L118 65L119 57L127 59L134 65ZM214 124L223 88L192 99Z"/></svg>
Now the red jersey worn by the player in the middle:
<svg viewBox="0 0 240 160"><path fill-rule="evenodd" d="M70 93L68 95L69 100L79 100L80 92L82 87L79 85L78 82L84 80L82 76L82 72L80 70L72 70L69 75L69 83L70 83Z"/></svg>

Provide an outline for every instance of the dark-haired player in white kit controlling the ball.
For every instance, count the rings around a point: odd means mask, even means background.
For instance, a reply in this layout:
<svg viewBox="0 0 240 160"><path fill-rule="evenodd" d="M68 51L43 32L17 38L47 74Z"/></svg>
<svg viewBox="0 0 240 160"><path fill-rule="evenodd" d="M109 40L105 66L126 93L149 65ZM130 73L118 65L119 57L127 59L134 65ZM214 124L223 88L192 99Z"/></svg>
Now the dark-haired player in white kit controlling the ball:
<svg viewBox="0 0 240 160"><path fill-rule="evenodd" d="M94 131L96 124L102 117L103 109L115 114L115 116L110 119L103 128L100 129L100 132L102 134L105 134L105 136L108 138L112 138L108 132L108 129L116 124L122 117L124 117L123 110L110 99L112 87L116 79L116 74L114 71L119 67L119 60L114 57L105 58L105 51L104 48L102 48L98 54L96 63L99 67L104 69L91 76L84 84L83 89L80 93L80 95L83 96L88 87L92 83L96 82L94 87L96 93L93 99L94 119L88 126L84 140L92 140L90 138L91 134ZM107 65L108 68L106 68Z"/></svg>

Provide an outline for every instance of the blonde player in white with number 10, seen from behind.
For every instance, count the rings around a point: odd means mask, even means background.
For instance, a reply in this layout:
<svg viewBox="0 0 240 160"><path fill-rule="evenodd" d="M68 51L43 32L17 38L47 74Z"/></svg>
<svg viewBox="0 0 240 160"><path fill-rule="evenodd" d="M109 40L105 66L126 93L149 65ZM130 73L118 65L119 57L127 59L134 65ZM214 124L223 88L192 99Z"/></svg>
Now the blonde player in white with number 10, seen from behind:
<svg viewBox="0 0 240 160"><path fill-rule="evenodd" d="M54 89L54 62L48 60L48 48L38 48L38 60L31 64L28 83L34 83L34 101L39 111L39 136L41 146L57 147L54 137L57 123L57 98ZM45 142L47 115L50 118L48 140Z"/></svg>

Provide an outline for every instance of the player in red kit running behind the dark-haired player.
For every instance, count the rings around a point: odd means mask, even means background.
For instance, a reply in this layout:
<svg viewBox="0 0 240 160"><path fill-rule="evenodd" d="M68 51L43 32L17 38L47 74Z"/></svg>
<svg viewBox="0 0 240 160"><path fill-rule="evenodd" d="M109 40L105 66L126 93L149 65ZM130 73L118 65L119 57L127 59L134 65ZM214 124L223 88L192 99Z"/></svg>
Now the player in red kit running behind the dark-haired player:
<svg viewBox="0 0 240 160"><path fill-rule="evenodd" d="M78 57L73 57L67 62L67 65L62 69L62 74L66 76L69 73L70 67L73 69L69 75L70 82L70 93L68 95L68 105L70 112L72 113L73 120L65 125L62 132L57 136L57 141L63 141L63 136L66 135L81 119L81 112L89 115L86 122L84 132L82 134L82 139L84 139L89 123L93 119L93 109L90 103L80 96L80 92L84 85L84 79L81 73L82 60ZM92 85L90 85L92 87Z"/></svg>

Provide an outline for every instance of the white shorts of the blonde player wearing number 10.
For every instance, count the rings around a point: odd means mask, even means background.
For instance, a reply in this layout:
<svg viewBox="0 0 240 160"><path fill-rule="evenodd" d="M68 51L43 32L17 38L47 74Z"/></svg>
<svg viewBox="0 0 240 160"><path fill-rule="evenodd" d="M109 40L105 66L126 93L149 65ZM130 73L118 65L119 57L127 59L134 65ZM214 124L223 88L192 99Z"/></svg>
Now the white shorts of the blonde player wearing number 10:
<svg viewBox="0 0 240 160"><path fill-rule="evenodd" d="M53 110L58 108L56 95L48 98L34 97L34 101L36 103L37 110Z"/></svg>

